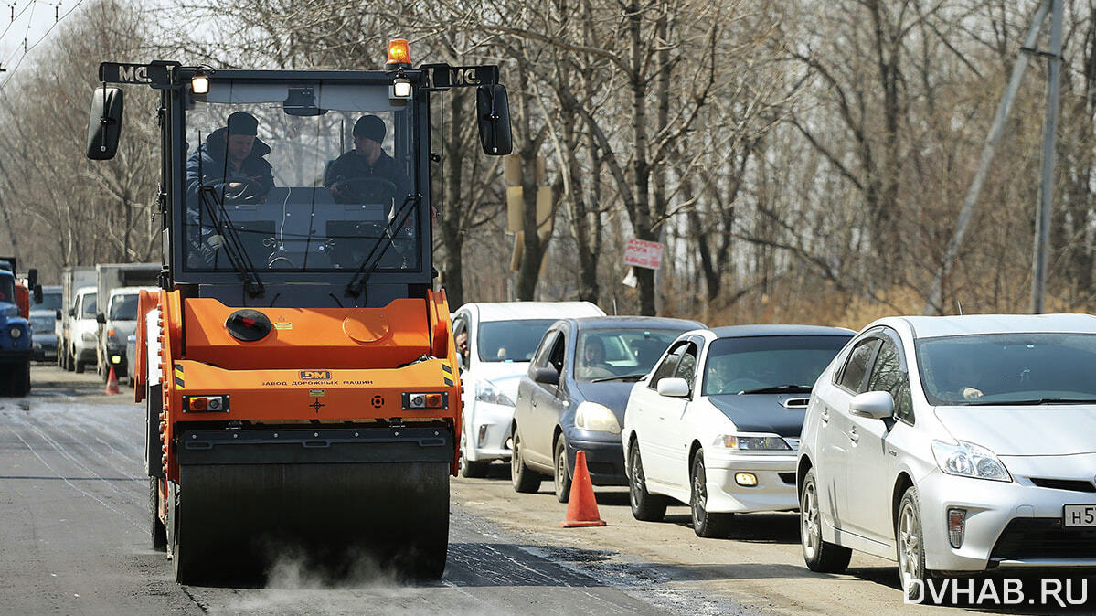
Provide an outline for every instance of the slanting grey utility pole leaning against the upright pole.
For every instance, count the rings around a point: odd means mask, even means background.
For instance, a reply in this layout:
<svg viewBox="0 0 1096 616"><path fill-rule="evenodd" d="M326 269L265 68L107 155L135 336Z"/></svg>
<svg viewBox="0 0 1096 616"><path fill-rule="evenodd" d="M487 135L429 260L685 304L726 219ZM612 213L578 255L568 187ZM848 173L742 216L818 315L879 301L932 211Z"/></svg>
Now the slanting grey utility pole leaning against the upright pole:
<svg viewBox="0 0 1096 616"><path fill-rule="evenodd" d="M985 176L990 172L990 164L993 162L993 155L997 150L997 141L1001 140L1001 135L1004 133L1005 122L1008 121L1008 115L1012 113L1013 102L1020 89L1024 72L1027 71L1030 55L1036 50L1035 47L1039 41L1039 31L1042 30L1042 22L1046 21L1052 2L1058 7L1057 14L1059 15L1059 20L1061 20L1061 0L1042 0L1039 3L1039 8L1036 9L1035 15L1031 18L1031 25L1024 36L1020 53L1016 58L1016 65L1013 66L1013 75L1008 79L1008 87L1005 88L1005 94L1001 98L1001 104L997 106L997 115L994 116L990 134L985 137L985 145L982 147L982 155L978 160L974 179L971 181L967 196L963 198L962 207L959 209L955 233L948 241L948 246L944 252L944 262L937 270L936 278L933 281L933 286L928 292L928 301L925 304L924 315L944 313L944 306L941 305L944 280L951 273L951 266L959 256L959 249L962 247L963 238L967 237L967 228L970 226L971 217L974 214L974 206L978 204L978 197L982 193L982 184L985 183ZM1059 24L1061 24L1061 21L1059 21ZM1059 26L1059 33L1061 33L1061 26ZM1061 34L1059 35L1059 42L1061 42ZM1061 56L1061 46L1059 46L1058 54ZM1057 113L1057 105L1054 109Z"/></svg>

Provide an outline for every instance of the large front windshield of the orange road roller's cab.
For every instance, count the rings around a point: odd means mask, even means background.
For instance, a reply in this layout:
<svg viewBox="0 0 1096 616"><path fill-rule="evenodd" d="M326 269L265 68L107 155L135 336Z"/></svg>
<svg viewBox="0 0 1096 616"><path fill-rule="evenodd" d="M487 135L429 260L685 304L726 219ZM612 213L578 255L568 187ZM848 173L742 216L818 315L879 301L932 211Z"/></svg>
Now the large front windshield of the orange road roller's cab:
<svg viewBox="0 0 1096 616"><path fill-rule="evenodd" d="M186 269L356 271L374 251L419 271L414 113L379 83L210 80L186 112Z"/></svg>

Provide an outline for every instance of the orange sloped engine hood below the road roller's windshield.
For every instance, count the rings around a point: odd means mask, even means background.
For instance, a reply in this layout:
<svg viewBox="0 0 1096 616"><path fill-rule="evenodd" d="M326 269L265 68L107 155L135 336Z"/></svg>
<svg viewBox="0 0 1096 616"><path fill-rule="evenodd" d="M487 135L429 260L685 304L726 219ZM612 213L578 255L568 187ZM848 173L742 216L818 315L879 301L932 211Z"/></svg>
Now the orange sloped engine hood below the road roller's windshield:
<svg viewBox="0 0 1096 616"><path fill-rule="evenodd" d="M266 338L241 342L225 329L238 308L183 299L184 358L226 369L392 368L430 354L425 299L384 308L253 308L274 324Z"/></svg>

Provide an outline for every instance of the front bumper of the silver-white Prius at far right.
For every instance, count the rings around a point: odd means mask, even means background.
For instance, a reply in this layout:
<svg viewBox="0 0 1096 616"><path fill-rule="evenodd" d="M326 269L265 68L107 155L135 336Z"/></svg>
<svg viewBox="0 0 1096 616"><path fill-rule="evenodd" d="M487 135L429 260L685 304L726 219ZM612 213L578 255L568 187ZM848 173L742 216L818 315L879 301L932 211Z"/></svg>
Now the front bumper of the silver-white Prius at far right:
<svg viewBox="0 0 1096 616"><path fill-rule="evenodd" d="M1036 486L1028 477L1076 477L1077 468L1096 468L1096 454L1018 459L1002 457L1014 472L1011 482L946 475L933 470L917 483L925 539L925 567L936 571L1034 570L1096 568L1096 527L1062 525L1068 504L1096 504L1096 492ZM1072 458L1072 459L1070 459ZM1038 461L1037 461L1038 460ZM1065 466L1073 467L1069 472ZM1014 467L1027 467L1017 472ZM1087 479L1076 479L1077 486ZM967 512L960 547L948 539L948 510Z"/></svg>

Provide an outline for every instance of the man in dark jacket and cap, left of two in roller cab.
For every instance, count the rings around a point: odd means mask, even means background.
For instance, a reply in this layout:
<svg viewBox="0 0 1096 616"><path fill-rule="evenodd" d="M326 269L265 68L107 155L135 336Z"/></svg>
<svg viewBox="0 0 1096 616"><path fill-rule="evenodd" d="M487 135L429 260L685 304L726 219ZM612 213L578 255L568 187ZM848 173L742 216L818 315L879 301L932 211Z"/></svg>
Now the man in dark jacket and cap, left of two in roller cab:
<svg viewBox="0 0 1096 616"><path fill-rule="evenodd" d="M228 116L186 160L186 195L197 198L201 186L212 186L220 201L254 203L274 187L274 172L263 157L270 146L259 139L259 121L244 111Z"/></svg>

